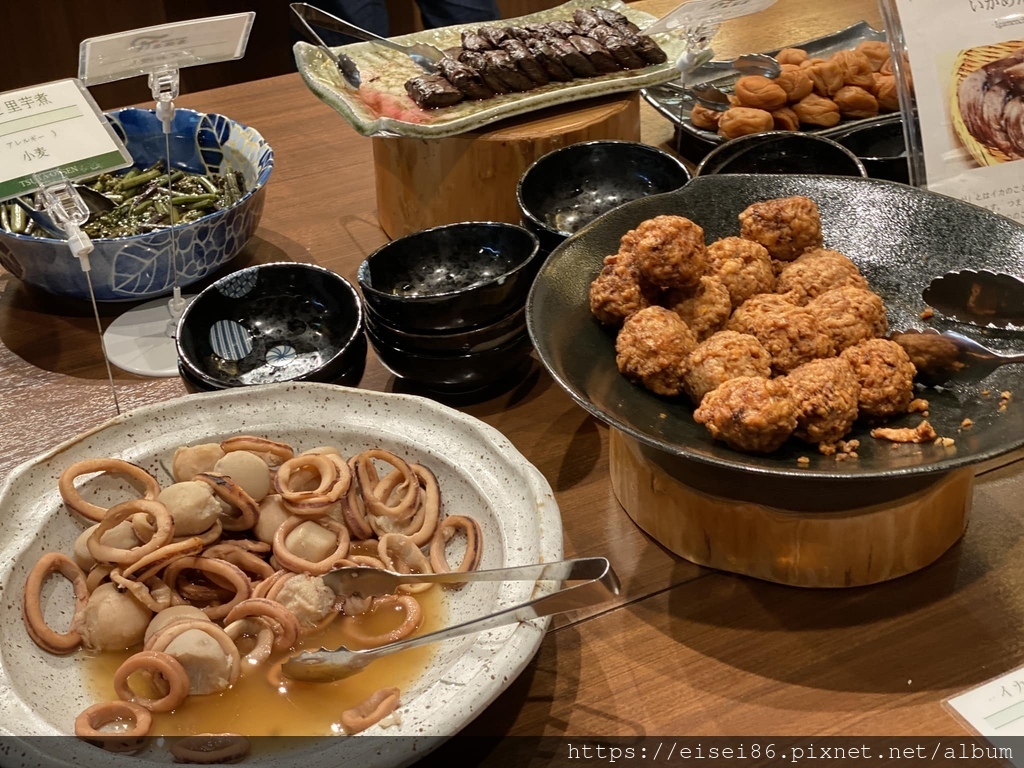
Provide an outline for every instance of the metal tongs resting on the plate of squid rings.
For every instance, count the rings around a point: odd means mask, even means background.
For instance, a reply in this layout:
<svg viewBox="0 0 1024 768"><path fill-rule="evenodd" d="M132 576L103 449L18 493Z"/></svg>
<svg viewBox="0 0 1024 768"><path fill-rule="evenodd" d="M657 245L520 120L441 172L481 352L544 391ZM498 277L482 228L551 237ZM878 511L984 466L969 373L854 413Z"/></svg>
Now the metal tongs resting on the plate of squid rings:
<svg viewBox="0 0 1024 768"><path fill-rule="evenodd" d="M293 680L329 683L354 675L371 662L400 650L436 643L454 637L484 632L496 627L529 622L553 613L586 608L618 594L618 577L604 557L582 557L559 562L519 565L511 568L475 570L465 573L394 573L377 568L338 568L324 575L324 582L341 597L372 597L393 594L402 584L462 584L465 582L566 582L586 579L583 584L566 587L551 595L520 603L497 613L473 618L455 627L431 632L370 650L349 650L344 646L330 650L304 651L282 666L282 673Z"/></svg>

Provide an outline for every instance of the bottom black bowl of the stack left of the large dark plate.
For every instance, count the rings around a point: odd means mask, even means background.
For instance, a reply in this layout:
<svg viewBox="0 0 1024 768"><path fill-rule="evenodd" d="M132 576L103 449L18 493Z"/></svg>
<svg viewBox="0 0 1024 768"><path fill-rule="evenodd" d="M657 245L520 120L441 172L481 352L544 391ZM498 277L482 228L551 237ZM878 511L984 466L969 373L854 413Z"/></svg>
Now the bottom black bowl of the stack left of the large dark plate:
<svg viewBox="0 0 1024 768"><path fill-rule="evenodd" d="M382 341L371 326L367 336L381 364L399 379L435 392L462 394L511 387L525 375L532 344L525 330L501 346L468 354L427 354Z"/></svg>

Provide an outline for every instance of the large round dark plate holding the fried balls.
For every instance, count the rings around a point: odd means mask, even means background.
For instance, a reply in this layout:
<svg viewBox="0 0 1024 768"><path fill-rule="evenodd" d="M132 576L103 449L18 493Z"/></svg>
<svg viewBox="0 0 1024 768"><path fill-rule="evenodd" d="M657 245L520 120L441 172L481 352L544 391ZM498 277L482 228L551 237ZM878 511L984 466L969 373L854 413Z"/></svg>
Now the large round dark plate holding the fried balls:
<svg viewBox="0 0 1024 768"><path fill-rule="evenodd" d="M555 380L597 418L640 440L650 458L676 476L732 498L787 508L836 509L886 501L933 482L940 473L1024 445L1024 402L998 411L998 393L1024 398L1024 369L1005 367L983 384L924 390L929 421L950 447L876 440L858 424L859 458L837 462L790 440L769 456L742 454L712 440L688 401L658 397L631 384L615 368L614 333L589 308L591 281L618 239L662 214L687 216L708 242L739 233L737 216L751 203L804 195L821 209L824 245L847 254L885 299L893 330L924 328L922 291L950 269L981 267L1024 274L1024 227L951 198L888 181L838 176L723 175L628 203L565 241L550 256L530 293L526 317L534 344ZM936 316L932 327L953 327ZM999 349L1014 348L1007 332L956 326ZM1017 337L1018 347L1024 339ZM983 396L983 389L992 394ZM974 426L961 431L971 419ZM915 426L920 415L890 422ZM798 464L808 457L806 467ZM837 481L846 483L837 487ZM849 493L847 493L849 492Z"/></svg>

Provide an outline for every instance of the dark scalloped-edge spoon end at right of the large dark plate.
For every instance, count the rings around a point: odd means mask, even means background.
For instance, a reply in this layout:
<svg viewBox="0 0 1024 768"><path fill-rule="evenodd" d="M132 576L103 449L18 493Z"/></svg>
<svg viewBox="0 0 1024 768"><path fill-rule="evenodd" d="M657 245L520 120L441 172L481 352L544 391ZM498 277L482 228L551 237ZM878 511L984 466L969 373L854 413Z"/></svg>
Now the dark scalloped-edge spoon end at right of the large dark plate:
<svg viewBox="0 0 1024 768"><path fill-rule="evenodd" d="M924 299L947 317L982 328L1024 330L1024 281L987 269L940 274Z"/></svg>

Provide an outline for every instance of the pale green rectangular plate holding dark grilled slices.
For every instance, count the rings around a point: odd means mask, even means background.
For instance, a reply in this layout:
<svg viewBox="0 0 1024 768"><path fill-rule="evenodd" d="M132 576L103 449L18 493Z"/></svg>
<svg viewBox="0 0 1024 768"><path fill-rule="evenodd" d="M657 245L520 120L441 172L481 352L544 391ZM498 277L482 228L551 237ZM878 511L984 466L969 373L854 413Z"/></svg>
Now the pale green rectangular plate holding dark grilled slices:
<svg viewBox="0 0 1024 768"><path fill-rule="evenodd" d="M636 10L620 0L570 0L555 8L530 13L518 18L506 18L502 26L519 26L555 19L571 20L577 8L602 5L623 13L641 29L649 27L654 16ZM465 29L480 24L457 25L436 30L416 32L394 38L396 42L430 43L441 50L459 45ZM423 70L403 53L374 43L352 43L336 50L355 61L361 84L352 88L339 74L334 62L314 45L295 44L295 62L309 89L330 104L364 136L412 136L440 138L482 128L496 120L504 120L545 106L579 101L591 96L633 91L660 85L679 76L676 59L685 42L671 35L656 35L658 45L669 54L669 60L642 70L623 70L596 78L575 79L568 83L551 83L525 93L507 93L483 101L461 101L439 110L421 110L406 93L406 81L423 75ZM372 105L374 104L374 105Z"/></svg>

